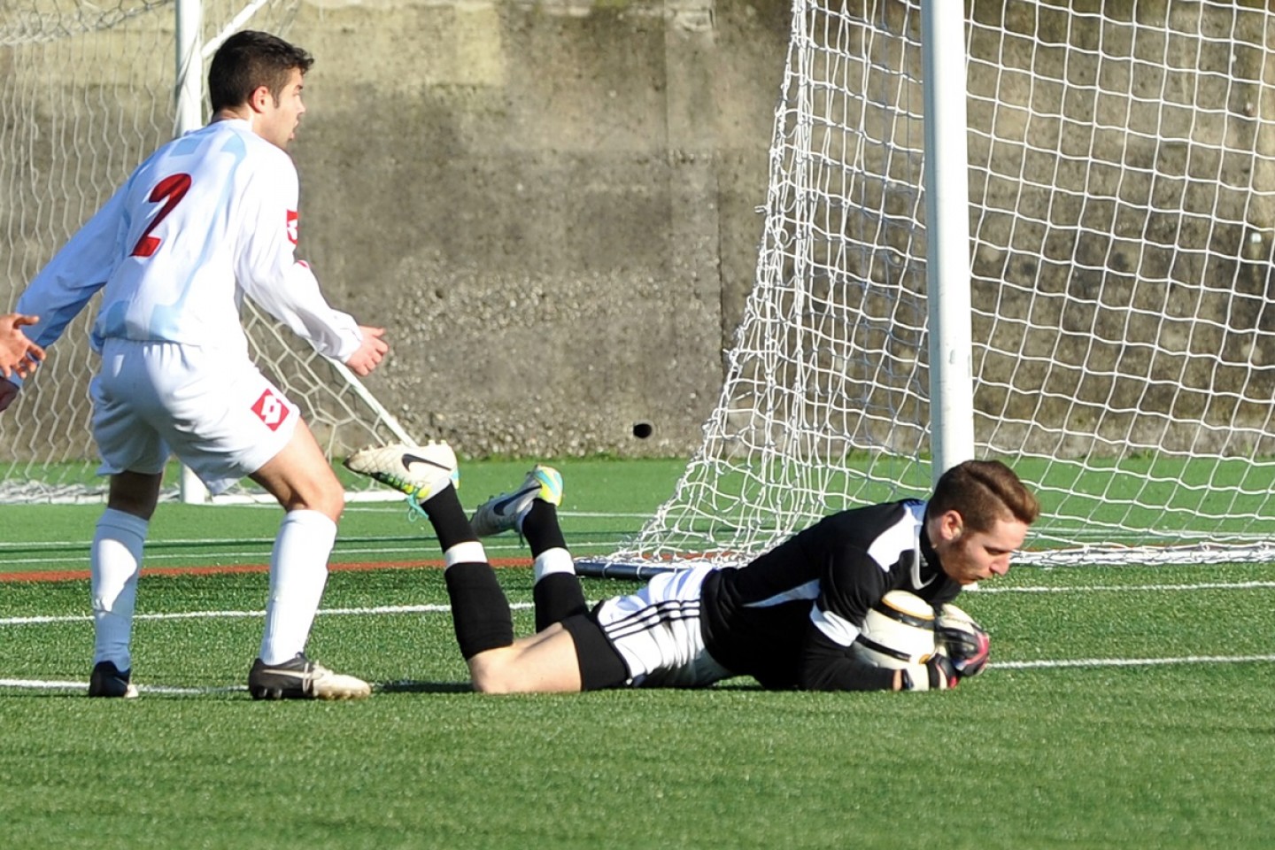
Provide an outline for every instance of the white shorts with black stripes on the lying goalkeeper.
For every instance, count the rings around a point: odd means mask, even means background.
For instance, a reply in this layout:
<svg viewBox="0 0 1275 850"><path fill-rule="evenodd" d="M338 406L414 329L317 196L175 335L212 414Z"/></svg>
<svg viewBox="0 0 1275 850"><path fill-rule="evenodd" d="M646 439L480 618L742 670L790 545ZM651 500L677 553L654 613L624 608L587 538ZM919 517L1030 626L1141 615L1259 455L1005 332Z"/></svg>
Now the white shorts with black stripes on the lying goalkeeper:
<svg viewBox="0 0 1275 850"><path fill-rule="evenodd" d="M629 668L629 684L695 688L732 675L700 633L700 586L711 571L664 572L638 593L598 605L594 616Z"/></svg>

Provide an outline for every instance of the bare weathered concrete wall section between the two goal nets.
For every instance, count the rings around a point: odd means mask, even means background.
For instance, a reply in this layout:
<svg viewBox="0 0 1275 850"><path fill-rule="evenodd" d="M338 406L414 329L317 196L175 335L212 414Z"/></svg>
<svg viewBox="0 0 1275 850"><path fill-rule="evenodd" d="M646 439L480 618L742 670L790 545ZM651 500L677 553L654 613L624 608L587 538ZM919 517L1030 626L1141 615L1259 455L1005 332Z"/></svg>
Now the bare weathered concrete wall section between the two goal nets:
<svg viewBox="0 0 1275 850"><path fill-rule="evenodd" d="M699 445L754 279L788 5L301 3L300 254L388 328L368 384L413 433Z"/></svg>

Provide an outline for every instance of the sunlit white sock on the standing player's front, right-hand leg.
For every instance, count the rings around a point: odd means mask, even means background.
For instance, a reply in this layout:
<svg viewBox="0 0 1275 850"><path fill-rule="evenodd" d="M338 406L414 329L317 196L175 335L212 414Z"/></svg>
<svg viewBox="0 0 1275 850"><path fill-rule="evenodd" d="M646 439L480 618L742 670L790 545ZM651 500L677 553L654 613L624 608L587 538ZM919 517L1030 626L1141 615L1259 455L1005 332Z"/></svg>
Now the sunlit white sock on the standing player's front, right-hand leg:
<svg viewBox="0 0 1275 850"><path fill-rule="evenodd" d="M261 661L280 664L306 647L328 582L328 556L337 524L319 511L288 511L270 553Z"/></svg>

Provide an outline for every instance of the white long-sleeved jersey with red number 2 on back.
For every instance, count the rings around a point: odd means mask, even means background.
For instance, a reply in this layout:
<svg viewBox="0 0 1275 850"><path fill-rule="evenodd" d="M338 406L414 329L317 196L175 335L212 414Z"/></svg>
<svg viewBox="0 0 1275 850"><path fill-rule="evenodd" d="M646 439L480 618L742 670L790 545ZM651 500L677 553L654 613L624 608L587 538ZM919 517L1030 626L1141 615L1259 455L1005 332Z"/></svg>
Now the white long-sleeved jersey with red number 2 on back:
<svg viewBox="0 0 1275 850"><path fill-rule="evenodd" d="M38 315L41 345L102 289L93 326L106 339L171 342L246 356L240 305L247 294L347 361L362 339L296 259L297 171L247 121L215 121L142 163L32 280L17 310Z"/></svg>

